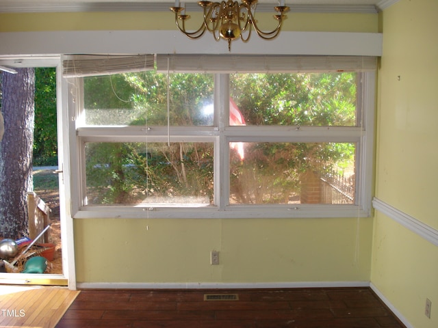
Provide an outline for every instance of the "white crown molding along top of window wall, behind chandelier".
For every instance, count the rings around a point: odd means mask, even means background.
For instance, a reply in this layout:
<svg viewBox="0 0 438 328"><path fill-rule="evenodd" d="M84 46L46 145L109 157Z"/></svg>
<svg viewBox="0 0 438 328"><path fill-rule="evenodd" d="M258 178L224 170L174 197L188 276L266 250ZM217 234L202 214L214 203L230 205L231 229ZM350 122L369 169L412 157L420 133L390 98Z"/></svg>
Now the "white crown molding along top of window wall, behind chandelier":
<svg viewBox="0 0 438 328"><path fill-rule="evenodd" d="M385 0L391 2L397 0ZM71 2L55 3L14 1L3 3L0 12L166 12L175 3L144 3L144 2ZM374 14L378 8L374 5L289 5L291 12L351 12ZM188 12L201 12L202 8L196 3L186 3ZM272 3L259 3L257 12L274 12Z"/></svg>

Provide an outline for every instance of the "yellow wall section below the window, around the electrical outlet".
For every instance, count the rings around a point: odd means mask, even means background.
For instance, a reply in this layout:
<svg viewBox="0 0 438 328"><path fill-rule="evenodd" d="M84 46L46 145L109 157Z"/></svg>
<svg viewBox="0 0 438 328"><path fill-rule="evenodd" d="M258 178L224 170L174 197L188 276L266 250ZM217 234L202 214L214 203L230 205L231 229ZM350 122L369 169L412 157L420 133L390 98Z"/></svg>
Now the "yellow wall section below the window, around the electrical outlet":
<svg viewBox="0 0 438 328"><path fill-rule="evenodd" d="M371 218L78 219L77 281L368 282L371 235Z"/></svg>

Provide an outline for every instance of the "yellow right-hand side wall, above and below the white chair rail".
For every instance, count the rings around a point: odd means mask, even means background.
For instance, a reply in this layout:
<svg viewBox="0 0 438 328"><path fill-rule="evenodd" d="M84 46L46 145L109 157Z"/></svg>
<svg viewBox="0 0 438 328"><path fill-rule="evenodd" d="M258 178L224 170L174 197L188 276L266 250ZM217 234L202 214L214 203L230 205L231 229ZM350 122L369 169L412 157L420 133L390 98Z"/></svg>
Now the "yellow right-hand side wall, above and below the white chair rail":
<svg viewBox="0 0 438 328"><path fill-rule="evenodd" d="M436 0L401 0L383 11L376 161L376 197L435 229L437 14ZM414 327L438 327L437 273L438 248L376 211L371 281Z"/></svg>

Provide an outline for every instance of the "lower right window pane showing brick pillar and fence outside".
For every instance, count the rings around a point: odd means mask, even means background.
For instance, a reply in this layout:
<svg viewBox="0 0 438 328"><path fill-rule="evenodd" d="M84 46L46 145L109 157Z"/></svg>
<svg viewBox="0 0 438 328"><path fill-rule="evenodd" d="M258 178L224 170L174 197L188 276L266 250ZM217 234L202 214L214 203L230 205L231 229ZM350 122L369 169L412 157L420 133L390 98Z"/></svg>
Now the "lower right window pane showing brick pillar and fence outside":
<svg viewBox="0 0 438 328"><path fill-rule="evenodd" d="M355 150L355 143L230 143L230 204L355 204Z"/></svg>

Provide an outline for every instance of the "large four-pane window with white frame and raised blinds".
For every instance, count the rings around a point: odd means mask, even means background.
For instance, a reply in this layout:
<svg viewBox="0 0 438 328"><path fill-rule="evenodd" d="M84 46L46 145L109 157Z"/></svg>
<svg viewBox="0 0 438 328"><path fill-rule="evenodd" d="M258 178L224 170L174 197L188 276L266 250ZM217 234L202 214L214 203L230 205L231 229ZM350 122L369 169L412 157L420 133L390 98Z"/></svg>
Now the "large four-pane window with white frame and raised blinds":
<svg viewBox="0 0 438 328"><path fill-rule="evenodd" d="M140 58L64 60L76 217L369 215L374 57Z"/></svg>

